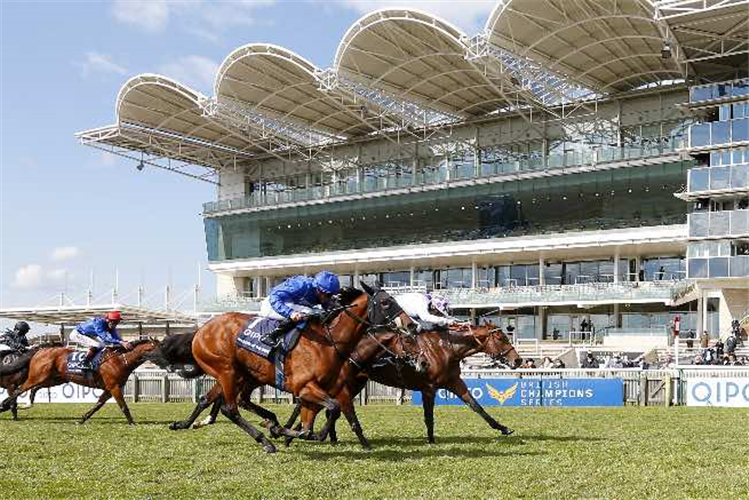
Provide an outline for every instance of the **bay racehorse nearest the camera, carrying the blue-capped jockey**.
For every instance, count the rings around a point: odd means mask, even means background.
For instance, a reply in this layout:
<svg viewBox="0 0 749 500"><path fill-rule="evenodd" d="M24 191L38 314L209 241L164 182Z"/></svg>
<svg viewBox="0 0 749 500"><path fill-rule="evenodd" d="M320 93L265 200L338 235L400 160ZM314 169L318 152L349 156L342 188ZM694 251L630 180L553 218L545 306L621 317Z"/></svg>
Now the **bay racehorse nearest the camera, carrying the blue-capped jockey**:
<svg viewBox="0 0 749 500"><path fill-rule="evenodd" d="M411 319L386 292L362 283L366 293L346 289L342 294L346 305L334 309L324 318L311 318L301 333L297 346L288 353L284 366L284 389L298 397L303 404L317 404L337 418L341 405L324 389L330 386L356 345L368 330L391 327L399 329L412 325ZM197 376L207 373L217 380L203 396L187 420L174 422L172 429L189 428L206 408L222 398L221 413L252 436L268 453L275 446L255 427L245 420L238 410L240 393L249 395L261 385L276 385L275 365L272 361L237 347L236 339L253 316L225 313L203 325L194 334L172 336L161 349L149 356L161 367L193 365L196 369L183 375ZM272 436L286 435L314 439L311 432L292 433L282 427L272 412L249 402L250 409L266 419ZM343 407L344 415L355 432L361 432L352 405ZM363 436L361 437L363 439Z"/></svg>

